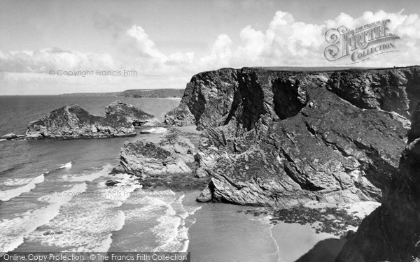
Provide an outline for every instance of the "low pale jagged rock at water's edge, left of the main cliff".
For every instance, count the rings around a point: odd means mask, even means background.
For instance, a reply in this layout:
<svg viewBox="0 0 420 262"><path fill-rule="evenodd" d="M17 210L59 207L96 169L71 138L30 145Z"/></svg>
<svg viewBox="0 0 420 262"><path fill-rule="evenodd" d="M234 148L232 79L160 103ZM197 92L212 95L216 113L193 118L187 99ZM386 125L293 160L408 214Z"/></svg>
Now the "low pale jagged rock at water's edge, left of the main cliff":
<svg viewBox="0 0 420 262"><path fill-rule="evenodd" d="M162 141L161 141L162 142ZM176 143L151 143L138 140L125 143L120 152L120 164L113 173L129 173L142 178L150 175L169 175L176 173L191 173L184 160L188 159L188 145Z"/></svg>

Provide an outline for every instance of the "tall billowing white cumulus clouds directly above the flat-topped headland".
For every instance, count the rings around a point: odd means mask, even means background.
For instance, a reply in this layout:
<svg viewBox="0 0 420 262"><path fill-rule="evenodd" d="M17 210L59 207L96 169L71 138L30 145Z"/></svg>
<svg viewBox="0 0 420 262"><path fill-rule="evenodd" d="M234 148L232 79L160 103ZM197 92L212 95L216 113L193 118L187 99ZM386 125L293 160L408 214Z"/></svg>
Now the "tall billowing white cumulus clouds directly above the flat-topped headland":
<svg viewBox="0 0 420 262"><path fill-rule="evenodd" d="M337 61L331 63L323 56L325 48L329 45L325 41L325 32L328 29L345 26L356 29L379 20L391 20L388 29L391 33L400 36L396 42L399 50L395 54L384 54L360 66L409 66L419 64L420 20L419 15L405 15L403 10L398 13L386 13L378 10L376 13L365 12L360 17L351 17L340 13L334 20L323 24L307 24L296 21L292 14L277 11L265 31L256 30L250 25L239 32L240 43L229 41L225 49L227 56L217 56L215 50L221 43L220 38L230 39L221 35L214 43L210 54L202 58L206 66L340 66L351 64L352 61Z"/></svg>

